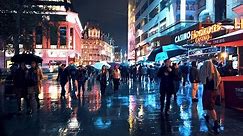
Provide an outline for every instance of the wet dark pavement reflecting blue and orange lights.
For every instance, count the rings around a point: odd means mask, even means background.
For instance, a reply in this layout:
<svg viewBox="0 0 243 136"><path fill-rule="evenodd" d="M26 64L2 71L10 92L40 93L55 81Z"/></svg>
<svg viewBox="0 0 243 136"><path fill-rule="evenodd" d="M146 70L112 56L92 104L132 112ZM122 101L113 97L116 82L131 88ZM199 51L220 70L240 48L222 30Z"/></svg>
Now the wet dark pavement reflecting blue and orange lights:
<svg viewBox="0 0 243 136"><path fill-rule="evenodd" d="M172 99L169 117L161 116L158 83L142 81L121 83L113 92L111 84L101 97L95 79L87 82L84 97L72 100L67 93L60 99L60 85L45 81L40 94L40 110L32 115L16 113L16 101L3 97L0 113L7 136L208 136L214 135L206 124L199 102L192 103L189 85ZM23 105L24 107L24 105ZM217 107L220 134L243 135L243 113ZM0 133L0 135L3 135Z"/></svg>

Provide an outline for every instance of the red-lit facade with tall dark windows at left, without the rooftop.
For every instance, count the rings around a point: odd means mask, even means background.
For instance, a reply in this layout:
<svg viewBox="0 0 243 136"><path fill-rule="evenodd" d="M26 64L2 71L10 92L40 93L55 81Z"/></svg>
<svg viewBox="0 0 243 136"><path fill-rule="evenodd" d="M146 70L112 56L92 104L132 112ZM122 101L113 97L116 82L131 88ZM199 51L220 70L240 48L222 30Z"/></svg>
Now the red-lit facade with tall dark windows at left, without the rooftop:
<svg viewBox="0 0 243 136"><path fill-rule="evenodd" d="M63 20L51 21L53 25L48 30L39 27L35 29L35 54L43 58L44 65L69 64L71 61L79 64L82 26L78 14L74 12L60 14L59 17L63 17Z"/></svg>

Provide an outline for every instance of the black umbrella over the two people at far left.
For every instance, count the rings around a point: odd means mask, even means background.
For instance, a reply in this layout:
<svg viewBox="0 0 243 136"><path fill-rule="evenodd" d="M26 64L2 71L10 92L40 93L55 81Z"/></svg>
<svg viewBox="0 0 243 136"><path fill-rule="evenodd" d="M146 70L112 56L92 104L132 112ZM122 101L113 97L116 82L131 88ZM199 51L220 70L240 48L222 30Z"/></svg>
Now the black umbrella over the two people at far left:
<svg viewBox="0 0 243 136"><path fill-rule="evenodd" d="M42 63L43 59L34 54L16 54L11 58L11 61L15 63L25 62L26 64L31 64L32 61Z"/></svg>

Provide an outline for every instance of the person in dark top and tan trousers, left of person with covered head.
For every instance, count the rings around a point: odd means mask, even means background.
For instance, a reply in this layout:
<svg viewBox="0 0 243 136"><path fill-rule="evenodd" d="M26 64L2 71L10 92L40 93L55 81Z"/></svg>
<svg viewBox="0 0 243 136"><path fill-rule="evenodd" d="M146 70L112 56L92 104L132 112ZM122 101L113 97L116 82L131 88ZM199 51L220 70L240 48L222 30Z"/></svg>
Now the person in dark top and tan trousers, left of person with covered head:
<svg viewBox="0 0 243 136"><path fill-rule="evenodd" d="M199 71L197 69L197 62L192 61L192 67L190 69L189 79L192 85L192 102L198 102L197 92L199 85Z"/></svg>

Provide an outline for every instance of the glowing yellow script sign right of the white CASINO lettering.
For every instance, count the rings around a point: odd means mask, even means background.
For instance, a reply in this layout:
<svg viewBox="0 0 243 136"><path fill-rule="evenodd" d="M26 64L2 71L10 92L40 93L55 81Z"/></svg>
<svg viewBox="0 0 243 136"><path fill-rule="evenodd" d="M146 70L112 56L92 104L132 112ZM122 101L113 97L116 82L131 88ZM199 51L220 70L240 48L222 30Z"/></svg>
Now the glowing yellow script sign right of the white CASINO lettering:
<svg viewBox="0 0 243 136"><path fill-rule="evenodd" d="M191 31L191 40L195 40L196 43L207 41L212 38L212 33L220 31L221 28L221 24L214 24L198 31Z"/></svg>

